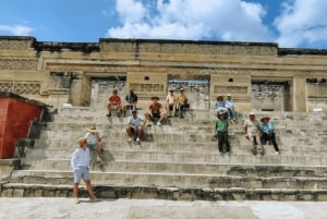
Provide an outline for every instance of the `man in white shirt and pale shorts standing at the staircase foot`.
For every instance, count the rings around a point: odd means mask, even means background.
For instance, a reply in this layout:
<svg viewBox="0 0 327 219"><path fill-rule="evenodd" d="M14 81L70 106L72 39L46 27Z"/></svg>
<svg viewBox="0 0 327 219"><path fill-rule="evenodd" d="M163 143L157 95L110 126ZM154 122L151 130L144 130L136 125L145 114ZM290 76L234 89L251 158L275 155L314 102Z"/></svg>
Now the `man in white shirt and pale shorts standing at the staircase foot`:
<svg viewBox="0 0 327 219"><path fill-rule="evenodd" d="M86 184L86 188L89 195L89 200L95 202L96 197L93 193L90 179L89 179L89 149L87 148L86 138L83 137L77 141L78 148L73 151L71 158L71 167L74 171L74 186L73 195L76 198L75 203L78 204L78 184L83 180Z"/></svg>

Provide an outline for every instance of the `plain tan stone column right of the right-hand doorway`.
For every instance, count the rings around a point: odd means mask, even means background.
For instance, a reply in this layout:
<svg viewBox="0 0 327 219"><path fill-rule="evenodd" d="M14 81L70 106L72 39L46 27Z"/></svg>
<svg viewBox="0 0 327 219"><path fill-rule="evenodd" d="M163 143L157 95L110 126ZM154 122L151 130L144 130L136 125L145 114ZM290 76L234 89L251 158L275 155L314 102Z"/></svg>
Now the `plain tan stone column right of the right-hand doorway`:
<svg viewBox="0 0 327 219"><path fill-rule="evenodd" d="M293 77L293 111L306 112L307 111L307 90L306 81L303 77Z"/></svg>

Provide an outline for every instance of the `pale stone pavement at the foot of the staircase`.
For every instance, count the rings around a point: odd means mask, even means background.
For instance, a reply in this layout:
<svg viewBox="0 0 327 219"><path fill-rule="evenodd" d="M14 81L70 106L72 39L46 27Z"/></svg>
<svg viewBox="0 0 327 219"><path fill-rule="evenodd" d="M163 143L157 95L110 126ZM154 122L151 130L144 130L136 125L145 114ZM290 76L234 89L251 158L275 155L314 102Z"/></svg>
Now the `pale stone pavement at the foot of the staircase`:
<svg viewBox="0 0 327 219"><path fill-rule="evenodd" d="M1 219L325 219L327 202L0 198Z"/></svg>

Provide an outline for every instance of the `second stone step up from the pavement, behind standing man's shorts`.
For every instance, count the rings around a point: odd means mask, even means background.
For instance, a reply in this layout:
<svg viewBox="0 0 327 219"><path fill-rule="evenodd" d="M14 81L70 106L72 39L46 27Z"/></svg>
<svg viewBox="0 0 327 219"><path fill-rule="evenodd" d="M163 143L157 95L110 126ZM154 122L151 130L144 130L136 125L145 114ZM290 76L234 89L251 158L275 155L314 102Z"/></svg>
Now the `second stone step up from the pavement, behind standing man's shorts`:
<svg viewBox="0 0 327 219"><path fill-rule="evenodd" d="M134 185L210 188L294 188L327 190L327 179L315 177L240 177L226 174L101 172L90 171L94 185ZM70 184L72 171L19 170L11 183Z"/></svg>

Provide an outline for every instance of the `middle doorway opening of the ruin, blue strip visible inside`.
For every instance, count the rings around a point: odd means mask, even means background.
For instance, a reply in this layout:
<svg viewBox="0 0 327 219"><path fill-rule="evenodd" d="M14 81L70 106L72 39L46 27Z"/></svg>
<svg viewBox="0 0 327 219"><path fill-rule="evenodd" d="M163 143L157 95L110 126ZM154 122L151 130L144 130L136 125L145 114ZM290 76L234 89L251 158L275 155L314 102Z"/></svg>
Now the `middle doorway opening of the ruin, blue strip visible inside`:
<svg viewBox="0 0 327 219"><path fill-rule="evenodd" d="M191 109L209 109L209 75L168 75L168 90L174 90L179 95L180 88L185 89Z"/></svg>

